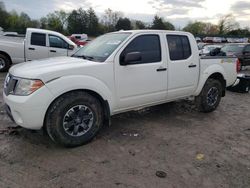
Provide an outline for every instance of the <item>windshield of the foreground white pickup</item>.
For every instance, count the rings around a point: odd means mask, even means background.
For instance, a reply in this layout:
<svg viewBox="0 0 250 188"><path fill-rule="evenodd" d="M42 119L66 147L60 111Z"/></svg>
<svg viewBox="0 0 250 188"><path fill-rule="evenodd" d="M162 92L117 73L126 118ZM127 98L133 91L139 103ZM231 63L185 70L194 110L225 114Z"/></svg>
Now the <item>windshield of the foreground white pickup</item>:
<svg viewBox="0 0 250 188"><path fill-rule="evenodd" d="M130 34L124 32L102 35L82 47L72 57L104 62Z"/></svg>

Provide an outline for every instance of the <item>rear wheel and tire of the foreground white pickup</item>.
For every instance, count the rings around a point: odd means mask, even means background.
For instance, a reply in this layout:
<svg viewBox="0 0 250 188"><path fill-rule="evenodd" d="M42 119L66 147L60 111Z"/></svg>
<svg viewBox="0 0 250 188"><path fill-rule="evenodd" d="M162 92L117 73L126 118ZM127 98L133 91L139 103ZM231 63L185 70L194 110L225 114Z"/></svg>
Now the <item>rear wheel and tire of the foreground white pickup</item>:
<svg viewBox="0 0 250 188"><path fill-rule="evenodd" d="M195 103L199 111L212 112L218 107L221 96L221 82L215 79L208 79L201 93L195 98Z"/></svg>

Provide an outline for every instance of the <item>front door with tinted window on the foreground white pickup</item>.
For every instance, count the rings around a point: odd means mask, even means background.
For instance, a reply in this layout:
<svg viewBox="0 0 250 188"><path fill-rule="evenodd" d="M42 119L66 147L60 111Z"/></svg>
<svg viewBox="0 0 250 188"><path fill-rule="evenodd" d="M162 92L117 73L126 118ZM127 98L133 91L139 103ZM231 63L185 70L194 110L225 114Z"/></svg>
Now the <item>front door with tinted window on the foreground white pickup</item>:
<svg viewBox="0 0 250 188"><path fill-rule="evenodd" d="M115 57L115 83L119 110L166 100L167 62L161 51L161 36L134 36ZM122 65L127 54L140 54L139 60Z"/></svg>

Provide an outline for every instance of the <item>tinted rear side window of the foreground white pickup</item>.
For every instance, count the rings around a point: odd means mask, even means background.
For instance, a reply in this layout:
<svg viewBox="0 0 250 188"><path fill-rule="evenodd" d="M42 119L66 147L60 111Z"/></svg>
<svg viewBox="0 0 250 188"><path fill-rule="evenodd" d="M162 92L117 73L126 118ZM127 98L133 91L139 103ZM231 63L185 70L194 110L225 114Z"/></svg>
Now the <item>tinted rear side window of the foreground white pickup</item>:
<svg viewBox="0 0 250 188"><path fill-rule="evenodd" d="M191 47L187 36L167 35L170 60L185 60L191 56Z"/></svg>

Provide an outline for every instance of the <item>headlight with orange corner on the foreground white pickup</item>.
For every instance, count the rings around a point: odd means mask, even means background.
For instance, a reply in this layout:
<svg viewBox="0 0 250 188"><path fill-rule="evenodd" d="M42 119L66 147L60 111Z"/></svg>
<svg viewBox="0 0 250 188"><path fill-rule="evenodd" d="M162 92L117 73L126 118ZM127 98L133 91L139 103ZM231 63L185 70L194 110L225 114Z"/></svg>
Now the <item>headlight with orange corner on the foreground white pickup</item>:
<svg viewBox="0 0 250 188"><path fill-rule="evenodd" d="M18 78L13 94L27 96L35 92L42 86L44 86L44 83L41 80Z"/></svg>

